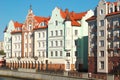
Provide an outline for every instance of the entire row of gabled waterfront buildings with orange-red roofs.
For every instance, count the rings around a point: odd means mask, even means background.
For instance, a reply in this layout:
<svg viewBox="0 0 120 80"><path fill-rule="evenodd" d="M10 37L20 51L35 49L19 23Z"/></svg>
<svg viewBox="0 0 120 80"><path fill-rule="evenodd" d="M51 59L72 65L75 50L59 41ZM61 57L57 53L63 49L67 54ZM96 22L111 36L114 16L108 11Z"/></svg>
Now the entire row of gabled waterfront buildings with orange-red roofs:
<svg viewBox="0 0 120 80"><path fill-rule="evenodd" d="M50 17L30 7L23 23L4 31L6 66L37 70L113 73L120 62L120 2L100 0L95 10L56 7Z"/></svg>

